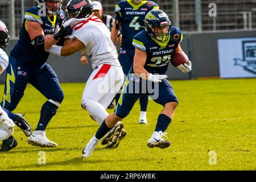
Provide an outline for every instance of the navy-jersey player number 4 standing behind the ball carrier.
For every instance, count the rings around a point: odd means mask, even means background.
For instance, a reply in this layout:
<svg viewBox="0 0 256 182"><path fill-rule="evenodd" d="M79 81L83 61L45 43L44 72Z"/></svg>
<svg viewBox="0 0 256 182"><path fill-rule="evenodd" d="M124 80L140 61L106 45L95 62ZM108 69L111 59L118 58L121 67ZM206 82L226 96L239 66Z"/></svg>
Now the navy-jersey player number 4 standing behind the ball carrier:
<svg viewBox="0 0 256 182"><path fill-rule="evenodd" d="M123 73L127 76L131 64L134 58L134 46L133 37L138 34L138 32L143 30L143 19L148 11L152 9L159 9L159 6L152 1L142 1L142 0L122 0L115 5L115 23L111 32L112 42L115 42L118 30L122 27L122 44L119 51L119 61L123 67ZM117 94L115 100L118 101L120 94ZM141 105L141 114L139 116L139 123L147 124L147 104L148 96L142 94L139 98L139 103Z"/></svg>

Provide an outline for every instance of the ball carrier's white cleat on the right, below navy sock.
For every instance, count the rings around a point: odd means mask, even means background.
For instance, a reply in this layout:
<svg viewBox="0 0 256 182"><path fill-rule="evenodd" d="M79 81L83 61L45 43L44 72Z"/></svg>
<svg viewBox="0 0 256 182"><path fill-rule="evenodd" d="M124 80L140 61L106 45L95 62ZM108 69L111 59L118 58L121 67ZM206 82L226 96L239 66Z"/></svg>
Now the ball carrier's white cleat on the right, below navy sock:
<svg viewBox="0 0 256 182"><path fill-rule="evenodd" d="M171 142L167 140L167 133L163 133L162 131L154 131L152 136L147 142L147 146L150 148L159 147L159 148L167 148L171 145Z"/></svg>

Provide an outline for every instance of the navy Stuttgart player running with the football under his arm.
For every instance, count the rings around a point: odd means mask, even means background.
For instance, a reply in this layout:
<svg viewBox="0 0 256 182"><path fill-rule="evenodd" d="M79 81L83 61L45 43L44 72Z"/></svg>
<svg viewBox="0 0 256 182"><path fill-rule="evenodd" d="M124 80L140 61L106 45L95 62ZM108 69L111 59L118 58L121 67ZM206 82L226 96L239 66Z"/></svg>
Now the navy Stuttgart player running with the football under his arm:
<svg viewBox="0 0 256 182"><path fill-rule="evenodd" d="M146 15L144 22L145 30L139 32L133 39L135 47L134 64L123 87L115 113L105 118L104 124L102 123L96 135L86 144L82 157L88 158L100 139L115 123L121 121L130 113L135 102L141 96L142 90L145 90L145 86L147 87L148 96L155 97L152 99L164 107L158 116L155 131L148 140L147 146L166 148L171 144L166 138L167 133L164 133L164 131L167 130L174 117L178 101L174 89L170 82L166 80L167 76L164 74L167 71L171 56L176 51L182 51L179 44L182 40L182 33L180 28L171 26L171 21L162 10L151 10ZM182 72L191 71L191 61L188 65L183 64L182 67L178 68ZM152 85L153 93L150 92L152 90L148 90L145 82L147 85ZM134 90L140 92L137 93Z"/></svg>

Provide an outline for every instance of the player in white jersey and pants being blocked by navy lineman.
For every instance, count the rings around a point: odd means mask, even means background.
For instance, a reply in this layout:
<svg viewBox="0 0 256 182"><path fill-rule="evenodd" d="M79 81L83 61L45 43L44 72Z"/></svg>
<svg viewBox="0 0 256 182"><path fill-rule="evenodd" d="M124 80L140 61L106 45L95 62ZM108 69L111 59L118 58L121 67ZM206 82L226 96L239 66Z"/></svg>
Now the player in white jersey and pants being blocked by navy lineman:
<svg viewBox="0 0 256 182"><path fill-rule="evenodd" d="M117 50L110 38L111 33L102 20L93 14L90 0L69 1L65 13L67 20L63 27L70 26L73 32L65 40L64 46L52 46L48 52L69 56L83 50L90 57L93 72L86 82L81 106L89 111L94 121L106 125L104 119L109 115L106 108L121 88L124 79ZM102 144L115 148L125 135L123 124L119 122L109 131ZM113 141L112 138L118 140Z"/></svg>

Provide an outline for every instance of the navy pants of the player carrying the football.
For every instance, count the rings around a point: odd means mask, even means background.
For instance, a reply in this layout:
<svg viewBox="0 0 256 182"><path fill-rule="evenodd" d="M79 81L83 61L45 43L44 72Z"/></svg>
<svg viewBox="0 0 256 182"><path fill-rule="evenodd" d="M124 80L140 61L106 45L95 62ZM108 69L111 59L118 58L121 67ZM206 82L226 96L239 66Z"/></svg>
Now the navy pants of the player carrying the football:
<svg viewBox="0 0 256 182"><path fill-rule="evenodd" d="M178 103L174 89L168 80L164 79L162 82L154 83L129 74L115 108L115 114L120 118L125 118L143 93L162 106L168 102Z"/></svg>

